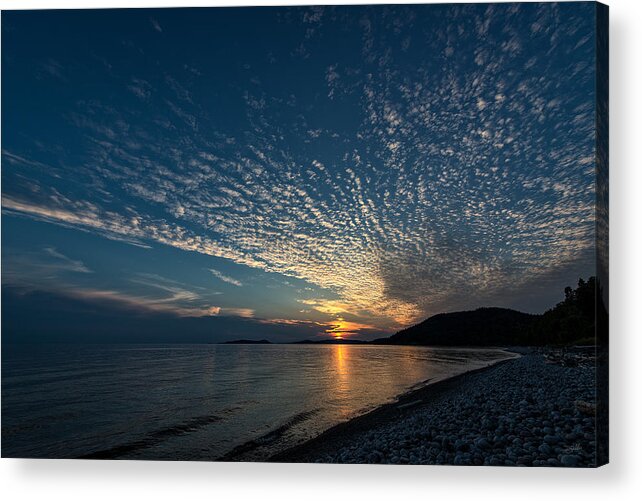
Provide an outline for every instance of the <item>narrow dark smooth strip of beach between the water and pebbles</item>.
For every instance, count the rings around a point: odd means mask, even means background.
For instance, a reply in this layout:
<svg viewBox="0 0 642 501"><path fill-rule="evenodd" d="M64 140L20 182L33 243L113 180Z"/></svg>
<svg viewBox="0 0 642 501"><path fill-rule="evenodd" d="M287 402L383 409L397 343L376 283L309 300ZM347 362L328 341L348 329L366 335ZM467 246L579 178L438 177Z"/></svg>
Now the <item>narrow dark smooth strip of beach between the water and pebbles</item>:
<svg viewBox="0 0 642 501"><path fill-rule="evenodd" d="M316 437L306 440L305 442L290 447L284 451L278 452L263 462L268 463L308 463L314 462L310 458L316 455L323 454L326 450L333 450L346 438L352 436L355 431L363 432L364 430L371 429L377 425L385 424L391 419L399 418L403 415L412 414L417 409L430 405L431 401L445 392L456 391L462 384L464 384L466 376L474 376L475 374L488 371L493 367L502 364L511 363L521 356L520 353L512 351L511 349L503 349L504 351L517 353L517 357L500 360L498 362L480 367L478 369L471 369L461 374L451 376L434 383L427 383L417 389L411 389L396 397L394 402L382 404L375 409L372 409L365 414L355 416L348 421L335 424L328 428Z"/></svg>

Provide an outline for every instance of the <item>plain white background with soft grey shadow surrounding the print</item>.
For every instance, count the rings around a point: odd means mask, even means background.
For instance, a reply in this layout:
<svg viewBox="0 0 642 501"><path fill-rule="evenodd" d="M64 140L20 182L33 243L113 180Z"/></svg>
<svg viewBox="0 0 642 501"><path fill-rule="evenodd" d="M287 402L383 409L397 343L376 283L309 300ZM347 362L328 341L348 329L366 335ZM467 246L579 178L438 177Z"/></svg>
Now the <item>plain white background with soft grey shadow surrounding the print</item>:
<svg viewBox="0 0 642 501"><path fill-rule="evenodd" d="M470 0L469 0L470 2ZM2 9L322 1L0 0ZM378 2L325 2L378 3ZM397 3L388 1L386 3ZM412 3L406 1L404 3ZM610 0L611 463L597 470L0 460L4 499L642 499L642 2ZM10 99L3 96L3 99Z"/></svg>

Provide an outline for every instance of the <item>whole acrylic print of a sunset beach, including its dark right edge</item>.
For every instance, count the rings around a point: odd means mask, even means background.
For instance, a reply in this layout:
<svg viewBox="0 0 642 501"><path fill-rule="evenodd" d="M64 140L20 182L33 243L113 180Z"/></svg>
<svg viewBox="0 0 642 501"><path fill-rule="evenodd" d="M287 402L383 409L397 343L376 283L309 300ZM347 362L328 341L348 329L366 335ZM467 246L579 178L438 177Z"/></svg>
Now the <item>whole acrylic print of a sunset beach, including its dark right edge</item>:
<svg viewBox="0 0 642 501"><path fill-rule="evenodd" d="M608 11L5 11L2 455L608 461Z"/></svg>

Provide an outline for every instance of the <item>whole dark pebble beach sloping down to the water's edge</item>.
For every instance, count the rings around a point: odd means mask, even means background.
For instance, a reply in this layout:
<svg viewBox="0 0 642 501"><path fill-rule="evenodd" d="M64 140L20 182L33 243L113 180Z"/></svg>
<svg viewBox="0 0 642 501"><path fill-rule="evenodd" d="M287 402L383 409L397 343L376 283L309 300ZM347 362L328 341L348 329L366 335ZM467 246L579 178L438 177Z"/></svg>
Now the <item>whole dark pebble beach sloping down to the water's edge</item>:
<svg viewBox="0 0 642 501"><path fill-rule="evenodd" d="M428 384L267 462L596 465L594 371L551 349Z"/></svg>

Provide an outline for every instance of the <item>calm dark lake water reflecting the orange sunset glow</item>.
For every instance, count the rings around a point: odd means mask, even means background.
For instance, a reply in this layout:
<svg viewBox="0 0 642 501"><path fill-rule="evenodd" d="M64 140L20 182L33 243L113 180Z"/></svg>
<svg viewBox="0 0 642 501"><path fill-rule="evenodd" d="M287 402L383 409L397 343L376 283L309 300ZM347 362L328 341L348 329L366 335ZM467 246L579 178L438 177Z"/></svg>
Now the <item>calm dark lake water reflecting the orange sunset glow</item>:
<svg viewBox="0 0 642 501"><path fill-rule="evenodd" d="M2 455L261 459L511 355L355 345L3 347Z"/></svg>

